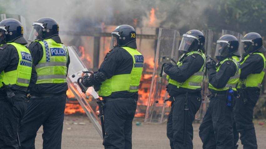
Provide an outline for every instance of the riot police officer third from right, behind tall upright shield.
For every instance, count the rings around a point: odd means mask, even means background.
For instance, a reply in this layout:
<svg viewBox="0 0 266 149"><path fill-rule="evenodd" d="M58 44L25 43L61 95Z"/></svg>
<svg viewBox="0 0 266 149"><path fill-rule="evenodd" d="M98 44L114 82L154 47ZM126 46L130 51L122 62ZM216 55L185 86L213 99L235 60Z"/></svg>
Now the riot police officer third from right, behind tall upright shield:
<svg viewBox="0 0 266 149"><path fill-rule="evenodd" d="M205 37L201 31L183 34L176 65L166 63L164 72L170 77L167 85L172 107L167 121L167 137L171 149L192 149L192 122L201 105L201 83L205 70Z"/></svg>

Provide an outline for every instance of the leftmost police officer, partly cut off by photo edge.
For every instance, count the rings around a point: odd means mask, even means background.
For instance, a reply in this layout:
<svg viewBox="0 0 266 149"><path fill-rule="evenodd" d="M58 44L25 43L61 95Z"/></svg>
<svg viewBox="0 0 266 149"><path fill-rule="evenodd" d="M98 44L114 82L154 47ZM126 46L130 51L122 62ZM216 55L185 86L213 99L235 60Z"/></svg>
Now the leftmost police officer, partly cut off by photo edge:
<svg viewBox="0 0 266 149"><path fill-rule="evenodd" d="M18 20L0 22L0 148L18 149L18 126L27 107L27 88L37 79L31 75L34 66L26 44Z"/></svg>

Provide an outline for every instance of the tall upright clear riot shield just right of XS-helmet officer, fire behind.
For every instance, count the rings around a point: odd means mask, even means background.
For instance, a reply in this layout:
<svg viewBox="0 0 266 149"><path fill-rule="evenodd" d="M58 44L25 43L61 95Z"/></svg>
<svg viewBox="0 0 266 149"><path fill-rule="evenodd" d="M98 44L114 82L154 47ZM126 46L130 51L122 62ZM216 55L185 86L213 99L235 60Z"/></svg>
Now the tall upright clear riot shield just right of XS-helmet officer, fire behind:
<svg viewBox="0 0 266 149"><path fill-rule="evenodd" d="M178 59L179 32L176 30L160 28L155 55L150 95L145 115L145 122L163 123L167 120L171 103L166 102L167 79L162 68L164 63Z"/></svg>

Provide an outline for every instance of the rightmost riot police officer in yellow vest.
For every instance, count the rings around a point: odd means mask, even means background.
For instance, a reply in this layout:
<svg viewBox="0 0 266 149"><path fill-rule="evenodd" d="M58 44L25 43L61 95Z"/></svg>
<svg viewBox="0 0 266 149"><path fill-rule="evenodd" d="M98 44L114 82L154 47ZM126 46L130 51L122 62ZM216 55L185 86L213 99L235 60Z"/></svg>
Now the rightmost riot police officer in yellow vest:
<svg viewBox="0 0 266 149"><path fill-rule="evenodd" d="M266 49L263 47L261 36L255 32L246 34L241 42L244 43L245 53L240 61L239 98L234 107L234 118L243 148L257 149L253 108L258 101L260 84L265 74L266 60L262 53L266 52Z"/></svg>

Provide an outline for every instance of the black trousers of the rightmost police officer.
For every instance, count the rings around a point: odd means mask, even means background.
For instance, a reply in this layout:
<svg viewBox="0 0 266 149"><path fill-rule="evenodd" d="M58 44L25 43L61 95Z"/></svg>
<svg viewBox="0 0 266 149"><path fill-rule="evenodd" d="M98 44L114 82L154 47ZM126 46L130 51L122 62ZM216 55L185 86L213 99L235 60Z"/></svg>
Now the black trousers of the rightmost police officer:
<svg viewBox="0 0 266 149"><path fill-rule="evenodd" d="M243 97L236 99L234 107L234 119L237 131L240 133L243 149L257 149L257 139L253 124L253 109L259 98L259 90L248 92L248 101L244 103Z"/></svg>

